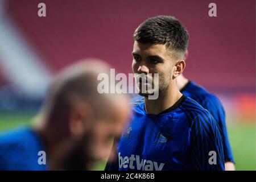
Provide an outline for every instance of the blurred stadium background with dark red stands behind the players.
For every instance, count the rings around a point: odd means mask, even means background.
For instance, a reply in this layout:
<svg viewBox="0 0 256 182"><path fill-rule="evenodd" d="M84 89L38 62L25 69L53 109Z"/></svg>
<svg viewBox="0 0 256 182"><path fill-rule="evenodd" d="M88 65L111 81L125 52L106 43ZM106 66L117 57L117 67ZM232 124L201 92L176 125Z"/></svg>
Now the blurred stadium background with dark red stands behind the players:
<svg viewBox="0 0 256 182"><path fill-rule="evenodd" d="M131 73L135 28L151 16L174 15L190 34L184 75L220 98L236 169L255 170L255 1L214 1L213 18L210 2L1 0L0 133L31 124L65 65L95 57Z"/></svg>

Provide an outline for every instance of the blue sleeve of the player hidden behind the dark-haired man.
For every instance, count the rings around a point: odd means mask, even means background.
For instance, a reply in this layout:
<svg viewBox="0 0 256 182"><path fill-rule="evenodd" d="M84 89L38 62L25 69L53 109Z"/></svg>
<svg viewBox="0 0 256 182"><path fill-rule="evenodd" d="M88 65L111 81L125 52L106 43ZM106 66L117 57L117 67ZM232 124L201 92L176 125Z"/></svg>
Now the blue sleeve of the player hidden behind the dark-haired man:
<svg viewBox="0 0 256 182"><path fill-rule="evenodd" d="M213 118L218 123L218 126L220 126L225 162L234 163L232 150L229 144L228 131L226 129L224 107L222 106L220 100L218 100L218 98L215 96L205 98L202 106L207 109L210 114L212 114Z"/></svg>

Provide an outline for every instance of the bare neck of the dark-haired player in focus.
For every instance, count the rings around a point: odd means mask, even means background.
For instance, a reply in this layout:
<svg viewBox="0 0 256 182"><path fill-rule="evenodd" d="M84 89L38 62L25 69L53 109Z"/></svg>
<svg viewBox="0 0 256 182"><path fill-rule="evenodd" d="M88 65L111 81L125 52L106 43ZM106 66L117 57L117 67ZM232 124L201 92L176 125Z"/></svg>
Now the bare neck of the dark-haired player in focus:
<svg viewBox="0 0 256 182"><path fill-rule="evenodd" d="M159 114L173 106L182 96L176 83L170 85L164 96L159 96L156 100L148 100L145 97L145 110L147 114Z"/></svg>

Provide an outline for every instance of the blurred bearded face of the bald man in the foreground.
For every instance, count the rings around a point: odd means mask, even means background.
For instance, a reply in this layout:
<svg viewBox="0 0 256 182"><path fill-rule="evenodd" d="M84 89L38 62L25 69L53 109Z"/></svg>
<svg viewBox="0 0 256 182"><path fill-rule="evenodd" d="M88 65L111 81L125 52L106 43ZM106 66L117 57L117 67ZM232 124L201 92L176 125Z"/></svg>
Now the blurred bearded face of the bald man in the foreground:
<svg viewBox="0 0 256 182"><path fill-rule="evenodd" d="M67 147L64 147L63 153L60 154L63 162L59 168L92 169L96 162L109 158L113 138L122 134L130 115L128 98L115 99L114 103L107 103L105 110L99 109L99 112L91 113L92 117L89 118L93 121L88 122L86 118L82 120L84 125L79 127L86 126L86 129L81 129L79 134L68 140Z"/></svg>

